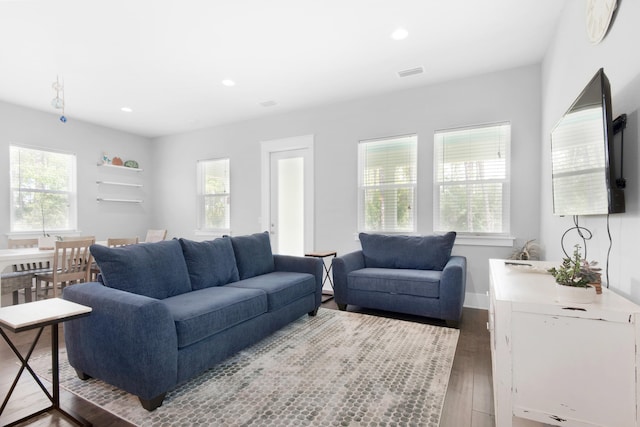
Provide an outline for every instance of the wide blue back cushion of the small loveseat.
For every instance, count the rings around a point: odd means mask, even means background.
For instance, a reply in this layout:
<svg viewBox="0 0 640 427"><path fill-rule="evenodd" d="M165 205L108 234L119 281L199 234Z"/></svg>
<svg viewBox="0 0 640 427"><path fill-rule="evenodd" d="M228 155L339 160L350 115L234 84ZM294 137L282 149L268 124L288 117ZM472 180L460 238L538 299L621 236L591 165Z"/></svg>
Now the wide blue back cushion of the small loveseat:
<svg viewBox="0 0 640 427"><path fill-rule="evenodd" d="M451 257L455 231L433 236L360 233L365 266L442 270Z"/></svg>

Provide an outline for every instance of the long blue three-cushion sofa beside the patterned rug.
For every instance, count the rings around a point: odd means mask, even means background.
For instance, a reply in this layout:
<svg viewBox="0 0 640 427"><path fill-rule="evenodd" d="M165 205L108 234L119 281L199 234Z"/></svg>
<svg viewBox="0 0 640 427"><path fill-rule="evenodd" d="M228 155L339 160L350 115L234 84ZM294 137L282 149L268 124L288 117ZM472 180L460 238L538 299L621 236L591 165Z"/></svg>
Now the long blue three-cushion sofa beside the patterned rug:
<svg viewBox="0 0 640 427"><path fill-rule="evenodd" d="M138 396L166 392L308 313L322 297L322 261L272 255L269 235L91 247L102 283L64 289L93 308L66 322L69 363Z"/></svg>

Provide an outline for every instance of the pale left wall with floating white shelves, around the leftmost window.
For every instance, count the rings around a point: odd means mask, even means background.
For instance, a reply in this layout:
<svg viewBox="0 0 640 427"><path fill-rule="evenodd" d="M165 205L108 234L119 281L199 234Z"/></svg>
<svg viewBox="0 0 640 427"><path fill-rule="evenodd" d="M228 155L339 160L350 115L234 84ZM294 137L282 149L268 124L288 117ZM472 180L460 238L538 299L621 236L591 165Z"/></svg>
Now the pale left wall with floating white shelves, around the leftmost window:
<svg viewBox="0 0 640 427"><path fill-rule="evenodd" d="M83 235L95 235L98 240L107 237L134 236L144 238L148 227L153 226L152 182L146 172L135 177L144 187L137 191L145 203L129 205L121 203L97 203L96 179L104 171L96 167L102 152L135 159L142 168L151 168L150 141L147 138L115 131L74 120L62 124L58 115L23 108L0 102L0 247L6 247L10 230L9 217L9 145L18 144L35 148L49 148L73 153L77 156L78 172L78 230ZM118 171L115 171L116 173ZM122 178L125 181L128 178ZM118 179L112 179L118 181ZM128 191L123 189L123 191Z"/></svg>

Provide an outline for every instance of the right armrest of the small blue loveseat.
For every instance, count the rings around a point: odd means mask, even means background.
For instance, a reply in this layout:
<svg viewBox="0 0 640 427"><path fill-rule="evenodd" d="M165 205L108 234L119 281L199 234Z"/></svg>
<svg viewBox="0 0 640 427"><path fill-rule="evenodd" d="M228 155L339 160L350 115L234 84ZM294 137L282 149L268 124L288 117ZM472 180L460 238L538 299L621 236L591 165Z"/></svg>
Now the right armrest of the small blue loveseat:
<svg viewBox="0 0 640 427"><path fill-rule="evenodd" d="M467 287L467 258L452 256L440 277L440 318L457 322Z"/></svg>

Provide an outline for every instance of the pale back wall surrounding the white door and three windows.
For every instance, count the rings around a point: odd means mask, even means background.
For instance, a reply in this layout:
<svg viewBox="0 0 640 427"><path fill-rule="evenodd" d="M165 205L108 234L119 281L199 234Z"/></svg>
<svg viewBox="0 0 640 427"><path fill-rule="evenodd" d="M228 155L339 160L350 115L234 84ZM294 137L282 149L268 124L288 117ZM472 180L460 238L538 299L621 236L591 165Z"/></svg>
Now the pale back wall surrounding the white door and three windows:
<svg viewBox="0 0 640 427"><path fill-rule="evenodd" d="M512 235L538 238L540 202L539 66L344 102L307 111L209 128L153 141L156 222L170 235L202 238L196 227L196 161L231 159L231 227L235 235L261 230L260 141L314 135L316 249L359 249L357 143L418 134L418 232L432 232L433 133L498 121L512 124ZM488 259L511 248L456 246L468 257L467 303L484 304ZM477 296L476 296L477 295Z"/></svg>

